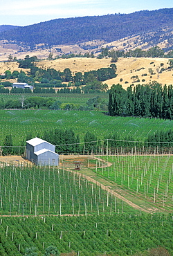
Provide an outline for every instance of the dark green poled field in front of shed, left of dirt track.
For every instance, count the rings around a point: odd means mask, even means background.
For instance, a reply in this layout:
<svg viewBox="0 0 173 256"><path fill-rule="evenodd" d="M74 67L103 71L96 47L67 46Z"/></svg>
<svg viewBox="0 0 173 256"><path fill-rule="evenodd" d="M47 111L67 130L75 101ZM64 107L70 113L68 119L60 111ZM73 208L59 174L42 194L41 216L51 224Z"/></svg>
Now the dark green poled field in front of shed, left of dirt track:
<svg viewBox="0 0 173 256"><path fill-rule="evenodd" d="M49 167L0 170L0 212L9 215L113 214L134 212L115 196L78 174Z"/></svg>

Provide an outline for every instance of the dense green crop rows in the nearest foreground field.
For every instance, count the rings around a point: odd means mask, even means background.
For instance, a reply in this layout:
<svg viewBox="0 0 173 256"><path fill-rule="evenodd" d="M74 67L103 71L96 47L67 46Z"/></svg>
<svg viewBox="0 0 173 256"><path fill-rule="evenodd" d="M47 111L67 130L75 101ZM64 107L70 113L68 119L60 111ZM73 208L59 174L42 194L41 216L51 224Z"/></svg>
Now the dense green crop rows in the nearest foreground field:
<svg viewBox="0 0 173 256"><path fill-rule="evenodd" d="M38 255L48 246L80 256L140 255L161 246L172 255L172 232L172 216L164 215L1 217L0 255L24 255L31 246Z"/></svg>

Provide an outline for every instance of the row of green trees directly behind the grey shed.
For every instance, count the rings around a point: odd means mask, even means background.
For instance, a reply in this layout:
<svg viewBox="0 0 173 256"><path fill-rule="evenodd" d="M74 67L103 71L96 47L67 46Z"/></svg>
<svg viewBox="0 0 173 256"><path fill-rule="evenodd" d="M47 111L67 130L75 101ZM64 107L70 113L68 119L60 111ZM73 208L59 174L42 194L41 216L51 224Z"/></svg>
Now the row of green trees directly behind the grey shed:
<svg viewBox="0 0 173 256"><path fill-rule="evenodd" d="M12 135L6 136L2 145L3 156L9 154L24 155L26 141L34 138L35 135L28 134L26 139L21 140L19 146L14 147L12 143ZM90 131L86 131L84 136L80 137L72 129L49 129L44 131L41 136L37 134L37 137L43 138L55 145L55 152L58 154L120 154L120 152L131 152L134 149L134 153L138 150L147 151L148 153L171 153L173 151L173 131L156 131L153 135L149 135L143 142L136 140L134 136L121 136L118 133L108 134L104 139L98 138Z"/></svg>

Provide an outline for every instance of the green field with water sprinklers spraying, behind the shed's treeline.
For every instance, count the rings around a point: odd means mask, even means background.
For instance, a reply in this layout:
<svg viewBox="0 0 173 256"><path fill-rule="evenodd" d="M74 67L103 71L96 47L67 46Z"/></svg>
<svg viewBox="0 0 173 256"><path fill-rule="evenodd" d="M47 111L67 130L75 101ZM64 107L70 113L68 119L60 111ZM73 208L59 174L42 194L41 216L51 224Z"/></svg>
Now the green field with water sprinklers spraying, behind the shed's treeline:
<svg viewBox="0 0 173 256"><path fill-rule="evenodd" d="M1 144L7 134L12 134L13 145L20 145L28 133L42 136L48 129L73 129L81 141L86 131L103 139L107 134L116 132L133 136L143 141L155 131L172 129L173 120L145 119L133 117L106 116L100 111L57 111L46 109L7 109L0 110Z"/></svg>

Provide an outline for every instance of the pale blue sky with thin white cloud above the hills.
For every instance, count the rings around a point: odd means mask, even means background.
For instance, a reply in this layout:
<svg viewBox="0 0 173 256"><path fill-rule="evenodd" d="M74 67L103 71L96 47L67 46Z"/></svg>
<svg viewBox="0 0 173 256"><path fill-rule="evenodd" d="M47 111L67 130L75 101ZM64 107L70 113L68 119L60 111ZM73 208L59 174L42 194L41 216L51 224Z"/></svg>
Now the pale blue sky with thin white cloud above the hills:
<svg viewBox="0 0 173 256"><path fill-rule="evenodd" d="M172 8L172 0L0 0L0 25L28 26L51 19Z"/></svg>

